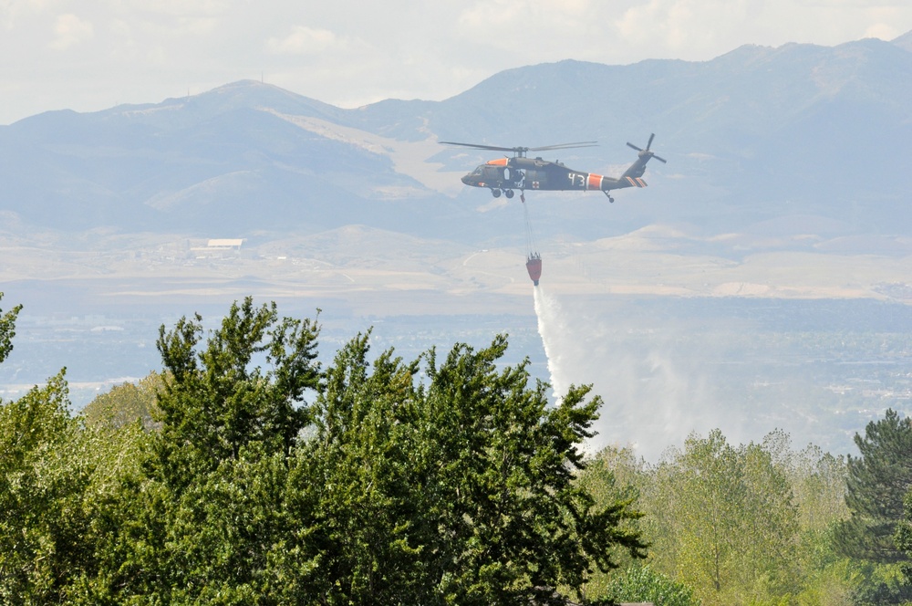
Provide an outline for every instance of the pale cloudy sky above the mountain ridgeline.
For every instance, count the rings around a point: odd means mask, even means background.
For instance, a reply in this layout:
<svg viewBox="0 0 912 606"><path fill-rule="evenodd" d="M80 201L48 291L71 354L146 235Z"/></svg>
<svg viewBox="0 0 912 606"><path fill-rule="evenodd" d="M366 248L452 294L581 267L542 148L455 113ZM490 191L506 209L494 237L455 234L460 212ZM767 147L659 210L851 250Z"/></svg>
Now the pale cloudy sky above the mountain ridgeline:
<svg viewBox="0 0 912 606"><path fill-rule="evenodd" d="M566 58L704 61L912 30L908 0L0 0L0 124L241 79L353 108Z"/></svg>

